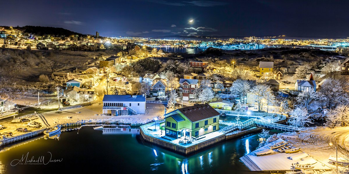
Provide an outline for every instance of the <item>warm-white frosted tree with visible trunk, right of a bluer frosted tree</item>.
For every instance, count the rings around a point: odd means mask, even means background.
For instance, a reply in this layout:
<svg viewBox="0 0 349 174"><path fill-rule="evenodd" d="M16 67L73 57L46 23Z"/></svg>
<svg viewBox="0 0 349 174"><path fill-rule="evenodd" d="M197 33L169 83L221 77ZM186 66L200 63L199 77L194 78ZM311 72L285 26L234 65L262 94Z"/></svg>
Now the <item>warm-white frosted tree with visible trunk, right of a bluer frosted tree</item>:
<svg viewBox="0 0 349 174"><path fill-rule="evenodd" d="M266 104L267 98L272 98L269 95L273 95L273 92L270 89L270 87L265 84L254 86L250 92L252 100L256 102L258 105L258 112L260 112L263 109L263 105Z"/></svg>

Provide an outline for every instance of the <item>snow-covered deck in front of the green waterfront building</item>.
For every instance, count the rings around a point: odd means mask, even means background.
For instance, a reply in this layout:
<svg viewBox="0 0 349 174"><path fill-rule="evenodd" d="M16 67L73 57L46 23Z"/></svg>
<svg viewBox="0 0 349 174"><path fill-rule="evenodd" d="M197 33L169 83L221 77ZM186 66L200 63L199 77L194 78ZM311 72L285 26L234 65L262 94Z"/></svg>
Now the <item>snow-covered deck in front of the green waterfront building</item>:
<svg viewBox="0 0 349 174"><path fill-rule="evenodd" d="M155 129L155 126L156 126L156 129ZM162 136L165 136L165 131L160 129L158 122L156 123L156 125L155 125L155 122L153 122L151 124L141 126L141 129L142 129L143 133L148 135L148 136L152 136L152 137L158 138L159 140L166 141L166 142L169 142L172 144L180 145L180 146L185 147L185 148L190 147L190 146L195 145L195 144L198 144L198 143L201 143L201 142L209 140L209 139L213 139L217 136L223 135L223 133L218 130L216 132L212 132L212 133L208 133L208 134L200 136L200 137L205 137L205 138L193 141L191 144L189 144L189 143L185 144L185 143L179 143L179 141L184 141L184 136L180 137L178 139L174 139L174 138L169 137L169 136L166 136L166 139L161 138ZM168 140L168 139L170 139L170 140ZM186 139L188 139L188 137L186 137Z"/></svg>

